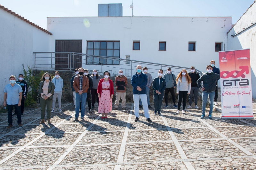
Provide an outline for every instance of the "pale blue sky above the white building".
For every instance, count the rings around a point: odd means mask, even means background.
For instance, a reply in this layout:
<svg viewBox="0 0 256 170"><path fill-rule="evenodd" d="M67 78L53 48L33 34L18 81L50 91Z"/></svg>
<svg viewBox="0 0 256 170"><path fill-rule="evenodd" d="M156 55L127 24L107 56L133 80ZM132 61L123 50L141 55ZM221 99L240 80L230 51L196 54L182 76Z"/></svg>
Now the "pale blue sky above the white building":
<svg viewBox="0 0 256 170"><path fill-rule="evenodd" d="M133 16L232 17L232 24L254 0L133 0ZM96 17L98 4L122 3L132 16L132 0L0 0L4 7L46 29L46 17Z"/></svg>

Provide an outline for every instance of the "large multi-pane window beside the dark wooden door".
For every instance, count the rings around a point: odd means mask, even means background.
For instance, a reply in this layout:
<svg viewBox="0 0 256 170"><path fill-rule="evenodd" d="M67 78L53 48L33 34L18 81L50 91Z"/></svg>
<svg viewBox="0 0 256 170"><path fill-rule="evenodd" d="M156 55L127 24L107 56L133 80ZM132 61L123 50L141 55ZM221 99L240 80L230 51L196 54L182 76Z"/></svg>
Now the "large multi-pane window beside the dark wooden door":
<svg viewBox="0 0 256 170"><path fill-rule="evenodd" d="M119 64L120 41L87 41L87 54L113 59L87 56L86 64Z"/></svg>

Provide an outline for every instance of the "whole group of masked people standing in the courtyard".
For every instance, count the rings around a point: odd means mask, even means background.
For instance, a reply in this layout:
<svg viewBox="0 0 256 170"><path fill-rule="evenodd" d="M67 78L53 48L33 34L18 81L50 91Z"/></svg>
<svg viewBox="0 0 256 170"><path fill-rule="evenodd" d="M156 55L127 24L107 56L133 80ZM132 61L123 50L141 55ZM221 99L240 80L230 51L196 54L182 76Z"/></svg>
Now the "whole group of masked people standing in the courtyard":
<svg viewBox="0 0 256 170"><path fill-rule="evenodd" d="M143 70L143 72L142 72ZM172 95L173 107L177 108L176 114L180 113L181 103L182 113L185 113L187 95L189 95L189 106L192 108L192 99L194 98L195 108L197 106L197 97L199 89L203 91L202 116L205 117L205 105L207 98L210 99L209 118L212 118L213 103L217 105L218 100L218 80L220 79L220 70L215 67L215 61L211 61L210 65L206 66L206 73L201 77L195 71L195 67L191 66L190 72L183 69L176 76L172 73L171 68L167 68L164 74L162 69L158 70L158 76L152 80L152 76L148 73L148 68L138 65L136 73L132 75L131 85L133 87L134 115L135 122L139 121L139 108L143 107L144 115L148 122L152 122L149 118L148 108L152 108L149 103L149 89L151 84L154 91L154 115L161 115L161 106L164 99L165 91L165 107L168 107L168 94ZM79 112L81 112L81 121L84 121L86 100L88 102L88 111L91 113L94 110L95 101L98 103L98 113L101 114L101 119L107 119L108 113L112 110L112 98L114 95L114 84L109 79L110 73L105 71L104 78L98 75L97 70L92 71L92 75L88 73L88 69L79 68L75 70L75 75L71 78L70 85L73 91L73 100L75 107L75 118L73 121L78 121ZM12 127L12 116L17 115L18 125L21 123L21 115L24 111L24 101L28 93L28 85L23 80L23 75L19 75L19 80L16 81L15 76L10 76L10 84L4 88L4 106L8 110L8 126ZM201 85L203 82L203 86ZM119 101L122 99L122 110L125 110L125 95L127 78L123 75L123 71L119 70L118 76L115 78L116 84L116 101L114 110L118 109ZM63 88L63 80L60 78L60 73L55 72L52 78L50 73L46 72L42 76L42 81L38 86L38 98L41 105L41 122L44 123L45 108L47 107L47 122L51 123L51 113L55 112L55 102L58 98L59 112L61 110L61 96ZM178 94L178 106L176 105L174 88ZM15 113L12 115L13 107ZM52 108L53 107L53 108ZM52 109L52 110L51 110ZM57 110L57 109L56 109Z"/></svg>

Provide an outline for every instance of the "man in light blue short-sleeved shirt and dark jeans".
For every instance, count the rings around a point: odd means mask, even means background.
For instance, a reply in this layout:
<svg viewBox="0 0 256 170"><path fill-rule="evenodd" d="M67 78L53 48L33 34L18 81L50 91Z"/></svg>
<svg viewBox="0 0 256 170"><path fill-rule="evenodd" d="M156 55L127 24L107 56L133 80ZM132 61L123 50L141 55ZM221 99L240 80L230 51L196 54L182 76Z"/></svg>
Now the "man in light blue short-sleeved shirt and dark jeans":
<svg viewBox="0 0 256 170"><path fill-rule="evenodd" d="M6 129L12 127L12 109L13 107L17 111L18 125L23 126L21 124L21 99L22 99L22 88L20 85L15 83L16 78L14 76L10 76L9 78L10 84L4 87L4 106L7 107L8 111L8 126ZM7 99L7 102L6 102Z"/></svg>

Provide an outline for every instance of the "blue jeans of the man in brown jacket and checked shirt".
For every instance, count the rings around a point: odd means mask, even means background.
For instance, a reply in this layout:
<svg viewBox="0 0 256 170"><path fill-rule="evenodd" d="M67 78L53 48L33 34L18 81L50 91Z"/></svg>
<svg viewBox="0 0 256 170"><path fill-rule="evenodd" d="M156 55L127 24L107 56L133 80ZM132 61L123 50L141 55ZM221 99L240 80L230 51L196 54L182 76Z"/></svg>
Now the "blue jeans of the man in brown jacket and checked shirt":
<svg viewBox="0 0 256 170"><path fill-rule="evenodd" d="M79 94L78 92L76 92L75 118L78 118L78 116L79 116L80 102L81 102L81 118L84 117L86 98L87 98L87 93Z"/></svg>

